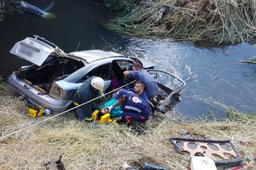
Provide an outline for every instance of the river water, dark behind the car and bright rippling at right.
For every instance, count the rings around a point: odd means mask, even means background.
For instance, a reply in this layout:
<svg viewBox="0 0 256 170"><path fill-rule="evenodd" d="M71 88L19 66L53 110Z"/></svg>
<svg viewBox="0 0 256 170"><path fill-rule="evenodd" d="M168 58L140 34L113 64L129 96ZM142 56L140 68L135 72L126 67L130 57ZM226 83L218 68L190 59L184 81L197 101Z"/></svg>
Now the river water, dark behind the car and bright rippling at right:
<svg viewBox="0 0 256 170"><path fill-rule="evenodd" d="M218 119L225 117L225 110L215 102L256 113L256 65L239 63L239 60L256 55L254 45L209 47L191 42L127 37L99 26L97 20L110 13L93 0L26 2L42 9L50 8L49 12L56 17L45 19L24 12L9 15L0 23L0 75L3 77L8 77L21 65L29 64L9 51L15 42L35 34L55 43L65 52L76 51L76 48L78 51L121 50L154 61L156 68L174 73L186 81L181 102L172 113L178 111L198 118L209 115L210 110Z"/></svg>

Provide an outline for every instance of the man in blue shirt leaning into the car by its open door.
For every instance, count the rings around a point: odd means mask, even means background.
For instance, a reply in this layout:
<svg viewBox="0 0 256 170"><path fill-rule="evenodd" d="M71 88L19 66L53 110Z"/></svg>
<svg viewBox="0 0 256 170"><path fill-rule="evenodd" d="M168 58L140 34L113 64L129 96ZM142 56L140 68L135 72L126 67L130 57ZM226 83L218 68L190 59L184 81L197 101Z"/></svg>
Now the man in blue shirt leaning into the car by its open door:
<svg viewBox="0 0 256 170"><path fill-rule="evenodd" d="M158 93L158 85L154 78L148 73L148 71L142 69L140 63L135 63L132 67L133 71L124 71L125 76L131 76L137 81L143 81L145 83L145 93L148 99L152 99Z"/></svg>

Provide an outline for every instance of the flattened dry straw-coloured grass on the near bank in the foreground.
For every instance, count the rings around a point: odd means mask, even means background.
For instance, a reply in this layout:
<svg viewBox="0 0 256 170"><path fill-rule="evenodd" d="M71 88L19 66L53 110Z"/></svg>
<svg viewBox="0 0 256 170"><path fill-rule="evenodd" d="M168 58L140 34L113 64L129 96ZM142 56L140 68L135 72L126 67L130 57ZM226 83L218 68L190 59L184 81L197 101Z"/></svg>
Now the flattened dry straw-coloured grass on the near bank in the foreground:
<svg viewBox="0 0 256 170"><path fill-rule="evenodd" d="M0 135L12 133L27 125L46 119L28 116L28 107L15 94L0 85ZM256 120L246 122L188 122L172 116L152 118L141 135L126 125L87 124L67 113L42 125L31 127L0 140L0 170L44 170L44 163L58 159L66 170L121 170L126 161L141 167L143 161L170 170L185 170L188 156L173 151L170 137L191 137L198 133L207 139L230 139L247 170L256 169ZM190 135L180 133L189 131ZM240 146L236 141L249 140ZM252 161L246 161L249 156Z"/></svg>

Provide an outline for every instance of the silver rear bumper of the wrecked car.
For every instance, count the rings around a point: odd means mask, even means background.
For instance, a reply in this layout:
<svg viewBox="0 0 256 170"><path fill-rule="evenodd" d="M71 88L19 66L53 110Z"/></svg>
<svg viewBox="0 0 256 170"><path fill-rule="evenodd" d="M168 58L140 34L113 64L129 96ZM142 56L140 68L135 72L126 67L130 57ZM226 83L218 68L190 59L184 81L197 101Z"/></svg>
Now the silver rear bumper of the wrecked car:
<svg viewBox="0 0 256 170"><path fill-rule="evenodd" d="M58 100L52 98L48 94L40 94L40 92L37 91L35 88L27 85L25 82L18 79L15 73L12 73L12 75L9 77L8 87L26 98L32 104L40 105L45 108L51 108L52 111L65 111L73 103L72 100Z"/></svg>

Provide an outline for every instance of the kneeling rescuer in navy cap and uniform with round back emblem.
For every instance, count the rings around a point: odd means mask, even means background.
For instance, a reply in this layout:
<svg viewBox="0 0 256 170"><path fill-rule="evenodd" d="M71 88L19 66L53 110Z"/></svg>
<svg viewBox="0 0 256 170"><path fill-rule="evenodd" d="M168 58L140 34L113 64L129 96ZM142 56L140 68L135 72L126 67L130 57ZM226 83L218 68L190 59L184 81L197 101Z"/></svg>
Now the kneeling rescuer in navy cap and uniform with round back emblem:
<svg viewBox="0 0 256 170"><path fill-rule="evenodd" d="M113 97L118 100L117 103L108 108L111 112L113 107L121 105L122 116L121 119L125 122L146 122L150 116L148 103L141 99L137 94L125 89L119 89Z"/></svg>

